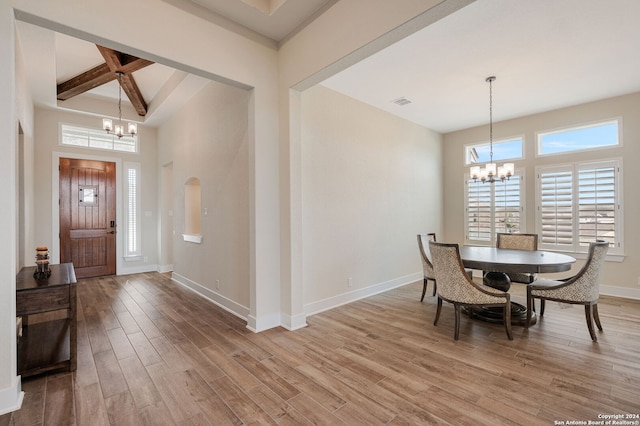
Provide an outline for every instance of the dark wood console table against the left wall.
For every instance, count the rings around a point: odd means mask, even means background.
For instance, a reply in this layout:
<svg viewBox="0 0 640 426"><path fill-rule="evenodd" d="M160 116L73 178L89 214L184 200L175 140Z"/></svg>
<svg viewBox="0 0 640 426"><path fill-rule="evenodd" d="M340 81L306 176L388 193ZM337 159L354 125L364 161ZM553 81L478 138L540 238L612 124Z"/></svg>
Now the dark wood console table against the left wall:
<svg viewBox="0 0 640 426"><path fill-rule="evenodd" d="M34 267L16 277L16 315L22 317L18 340L18 374L75 371L77 360L76 274L73 264L50 265L51 276L33 278ZM66 318L29 324L29 315L66 310Z"/></svg>

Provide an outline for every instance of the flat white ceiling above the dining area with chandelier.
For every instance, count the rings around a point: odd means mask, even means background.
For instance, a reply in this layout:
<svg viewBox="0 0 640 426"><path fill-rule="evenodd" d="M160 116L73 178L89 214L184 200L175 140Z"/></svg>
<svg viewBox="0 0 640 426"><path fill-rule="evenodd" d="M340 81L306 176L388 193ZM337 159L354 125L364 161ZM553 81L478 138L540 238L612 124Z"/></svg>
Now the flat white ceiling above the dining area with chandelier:
<svg viewBox="0 0 640 426"><path fill-rule="evenodd" d="M477 0L323 85L441 133L640 91L640 1ZM413 103L398 106L400 97Z"/></svg>

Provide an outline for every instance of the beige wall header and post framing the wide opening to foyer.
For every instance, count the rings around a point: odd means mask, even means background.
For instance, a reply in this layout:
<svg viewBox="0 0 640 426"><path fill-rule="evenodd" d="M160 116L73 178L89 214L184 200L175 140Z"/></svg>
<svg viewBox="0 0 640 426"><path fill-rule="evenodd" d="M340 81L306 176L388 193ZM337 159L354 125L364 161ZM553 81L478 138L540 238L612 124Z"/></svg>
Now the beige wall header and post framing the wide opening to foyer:
<svg viewBox="0 0 640 426"><path fill-rule="evenodd" d="M6 0L5 0L6 1ZM277 51L160 0L12 0L18 19L251 92L249 328L280 321ZM121 11L127 10L126 14ZM148 19L139 19L146 16ZM118 22L118 25L113 25ZM169 24L168 24L169 23ZM205 52L205 54L203 54Z"/></svg>

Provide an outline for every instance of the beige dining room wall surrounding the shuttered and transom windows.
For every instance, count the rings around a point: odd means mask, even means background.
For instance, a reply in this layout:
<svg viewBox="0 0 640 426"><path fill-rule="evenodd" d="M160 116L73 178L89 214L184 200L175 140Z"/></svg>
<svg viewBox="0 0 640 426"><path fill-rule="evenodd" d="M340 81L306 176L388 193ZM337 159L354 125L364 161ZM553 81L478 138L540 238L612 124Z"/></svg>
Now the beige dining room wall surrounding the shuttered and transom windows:
<svg viewBox="0 0 640 426"><path fill-rule="evenodd" d="M608 261L602 276L603 294L640 298L640 222L636 220L640 211L640 195L635 183L640 180L640 93L615 97L564 108L528 117L494 123L494 139L524 136L524 156L515 163L516 168L525 169L526 226L523 232L535 229L535 167L554 164L558 161L574 162L623 158L623 218L624 251L622 262ZM536 132L588 124L613 118L622 118L622 146L591 152L564 154L558 157L535 155ZM464 145L488 139L488 126L475 127L444 135L444 213L445 235L453 241L464 242ZM577 269L583 263L579 260Z"/></svg>

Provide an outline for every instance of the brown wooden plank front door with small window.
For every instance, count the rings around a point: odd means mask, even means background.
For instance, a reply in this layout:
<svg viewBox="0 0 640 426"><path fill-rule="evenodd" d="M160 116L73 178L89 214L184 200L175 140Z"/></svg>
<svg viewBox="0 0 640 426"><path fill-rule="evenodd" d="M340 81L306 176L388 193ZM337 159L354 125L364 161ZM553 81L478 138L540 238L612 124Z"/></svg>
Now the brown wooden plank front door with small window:
<svg viewBox="0 0 640 426"><path fill-rule="evenodd" d="M116 165L60 159L60 262L78 278L116 273Z"/></svg>

